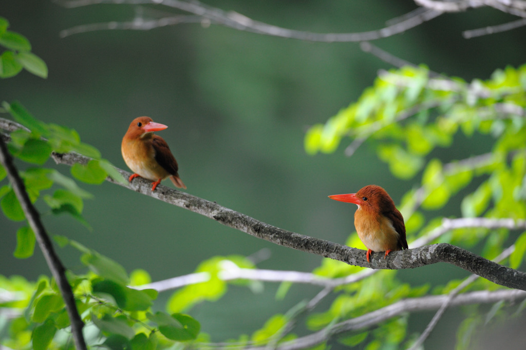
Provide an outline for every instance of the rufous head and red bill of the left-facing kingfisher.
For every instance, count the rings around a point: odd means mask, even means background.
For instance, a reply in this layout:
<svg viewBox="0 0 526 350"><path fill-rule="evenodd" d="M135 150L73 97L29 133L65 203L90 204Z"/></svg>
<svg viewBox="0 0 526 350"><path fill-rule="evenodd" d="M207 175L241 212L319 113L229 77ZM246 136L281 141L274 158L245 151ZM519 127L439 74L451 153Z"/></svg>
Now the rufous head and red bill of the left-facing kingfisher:
<svg viewBox="0 0 526 350"><path fill-rule="evenodd" d="M329 198L347 203L355 203L358 208L366 211L383 212L395 208L395 202L390 195L376 185L368 185L356 193L329 195Z"/></svg>

